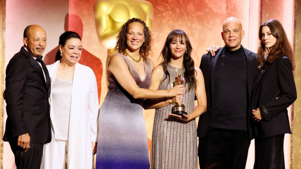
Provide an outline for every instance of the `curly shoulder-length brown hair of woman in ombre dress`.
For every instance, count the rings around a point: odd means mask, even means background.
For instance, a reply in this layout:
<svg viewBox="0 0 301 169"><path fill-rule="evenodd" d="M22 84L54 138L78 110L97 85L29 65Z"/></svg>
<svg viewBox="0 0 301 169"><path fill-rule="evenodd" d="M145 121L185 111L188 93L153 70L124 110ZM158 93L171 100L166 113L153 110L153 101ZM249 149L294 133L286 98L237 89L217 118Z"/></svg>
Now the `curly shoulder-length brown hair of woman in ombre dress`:
<svg viewBox="0 0 301 169"><path fill-rule="evenodd" d="M139 18L129 19L126 23L121 27L119 34L117 35L117 42L115 46L115 51L124 54L126 51L126 34L128 32L129 25L131 23L138 22L141 23L144 27L144 43L140 47L139 53L144 61L146 61L146 57L151 54L151 45L153 43L153 38L151 37L151 31L146 26L146 23Z"/></svg>

